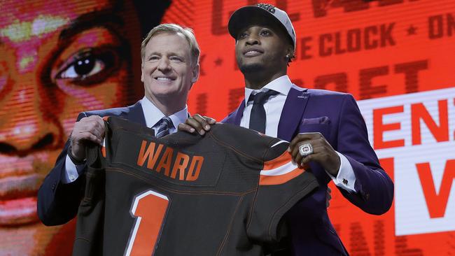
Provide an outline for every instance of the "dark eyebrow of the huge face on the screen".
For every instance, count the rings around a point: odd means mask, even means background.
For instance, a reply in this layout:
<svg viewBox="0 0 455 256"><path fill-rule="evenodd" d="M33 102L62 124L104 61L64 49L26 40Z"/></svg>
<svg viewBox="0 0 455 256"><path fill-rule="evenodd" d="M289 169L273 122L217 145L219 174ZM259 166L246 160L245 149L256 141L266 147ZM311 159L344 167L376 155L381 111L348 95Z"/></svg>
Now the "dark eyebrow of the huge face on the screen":
<svg viewBox="0 0 455 256"><path fill-rule="evenodd" d="M92 27L109 27L109 24L123 26L125 21L119 15L113 13L113 10L95 10L91 13L80 15L71 21L68 27L62 29L59 34L59 41L65 41L68 38Z"/></svg>

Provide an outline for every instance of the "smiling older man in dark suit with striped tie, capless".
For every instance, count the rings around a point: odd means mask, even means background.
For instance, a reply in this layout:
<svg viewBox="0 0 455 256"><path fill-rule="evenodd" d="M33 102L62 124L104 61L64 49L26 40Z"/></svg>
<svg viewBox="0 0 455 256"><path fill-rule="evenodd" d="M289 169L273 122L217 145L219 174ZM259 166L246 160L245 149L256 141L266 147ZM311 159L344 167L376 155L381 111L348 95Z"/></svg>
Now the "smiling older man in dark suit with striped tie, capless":
<svg viewBox="0 0 455 256"><path fill-rule="evenodd" d="M38 191L38 216L62 225L76 216L83 193L85 145L102 143L104 116L151 127L155 136L176 131L188 118L188 92L199 77L200 50L191 29L176 24L153 28L141 44L145 96L132 106L80 113L69 140Z"/></svg>

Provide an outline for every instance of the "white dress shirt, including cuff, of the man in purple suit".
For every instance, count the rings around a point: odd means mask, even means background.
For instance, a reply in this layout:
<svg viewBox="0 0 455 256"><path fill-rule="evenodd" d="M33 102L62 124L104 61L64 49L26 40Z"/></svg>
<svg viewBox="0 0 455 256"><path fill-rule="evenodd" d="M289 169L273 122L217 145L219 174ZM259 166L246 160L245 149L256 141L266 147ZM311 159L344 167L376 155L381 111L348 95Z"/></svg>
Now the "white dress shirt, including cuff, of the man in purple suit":
<svg viewBox="0 0 455 256"><path fill-rule="evenodd" d="M253 101L248 102L250 95L257 94L258 92L266 92L267 90L274 90L276 92L279 92L279 94L269 97L269 99L265 101L264 104L266 116L265 134L268 136L277 137L279 119L281 117L281 112L283 111L283 106L286 101L286 97L288 97L290 88L294 88L300 91L303 90L302 88L293 85L293 83L290 82L288 76L281 76L279 78L276 78L272 82L262 87L260 90L245 88L246 106L244 114L240 120L240 126L248 128L250 124L251 108L253 108ZM328 171L325 172L330 178L332 178L333 182L338 187L342 187L348 192L356 192L354 189L354 184L356 183L356 175L352 169L351 163L349 163L349 160L341 153L337 152L337 154L341 162L337 177L330 175ZM346 181L343 183L344 180Z"/></svg>

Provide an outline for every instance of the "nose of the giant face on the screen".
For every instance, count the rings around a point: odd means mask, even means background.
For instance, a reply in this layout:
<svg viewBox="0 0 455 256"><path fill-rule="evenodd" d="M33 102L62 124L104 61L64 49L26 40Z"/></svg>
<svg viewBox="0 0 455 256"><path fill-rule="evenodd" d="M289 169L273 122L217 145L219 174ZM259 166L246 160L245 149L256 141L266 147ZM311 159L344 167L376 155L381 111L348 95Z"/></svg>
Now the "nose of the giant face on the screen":
<svg viewBox="0 0 455 256"><path fill-rule="evenodd" d="M0 154L25 156L63 145L62 126L52 114L58 94L38 83L34 74L22 74L8 78L0 92Z"/></svg>

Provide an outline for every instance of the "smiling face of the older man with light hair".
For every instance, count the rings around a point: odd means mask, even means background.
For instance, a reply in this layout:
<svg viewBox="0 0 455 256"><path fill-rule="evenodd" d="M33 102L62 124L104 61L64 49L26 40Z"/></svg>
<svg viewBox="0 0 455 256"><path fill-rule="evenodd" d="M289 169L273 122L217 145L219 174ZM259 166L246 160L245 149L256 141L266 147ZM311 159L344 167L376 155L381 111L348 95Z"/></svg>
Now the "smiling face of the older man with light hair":
<svg viewBox="0 0 455 256"><path fill-rule="evenodd" d="M166 103L172 113L180 111L198 76L199 64L191 58L190 45L183 35L162 32L148 41L141 80L146 97L155 105Z"/></svg>

